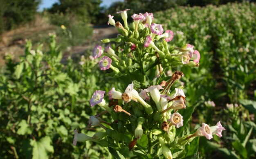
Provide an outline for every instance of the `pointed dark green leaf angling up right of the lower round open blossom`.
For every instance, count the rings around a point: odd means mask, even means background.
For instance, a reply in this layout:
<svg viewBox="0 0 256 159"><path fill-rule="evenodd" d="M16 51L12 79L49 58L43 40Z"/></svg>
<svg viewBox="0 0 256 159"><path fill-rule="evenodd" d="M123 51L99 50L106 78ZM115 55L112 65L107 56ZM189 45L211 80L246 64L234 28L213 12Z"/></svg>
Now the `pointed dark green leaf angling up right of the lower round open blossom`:
<svg viewBox="0 0 256 159"><path fill-rule="evenodd" d="M182 132L182 130L186 126L186 123L188 123L189 118L191 118L191 115L194 109L195 107L191 106L191 107L186 107L186 109L179 110L179 113L183 116L183 126L176 129L176 136L178 136Z"/></svg>

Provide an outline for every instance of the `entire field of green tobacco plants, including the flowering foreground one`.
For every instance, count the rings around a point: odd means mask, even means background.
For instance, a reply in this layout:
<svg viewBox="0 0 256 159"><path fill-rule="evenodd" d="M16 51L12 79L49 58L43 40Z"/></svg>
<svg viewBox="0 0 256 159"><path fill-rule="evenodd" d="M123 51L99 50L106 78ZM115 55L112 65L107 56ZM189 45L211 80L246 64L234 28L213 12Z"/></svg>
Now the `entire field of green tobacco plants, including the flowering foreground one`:
<svg viewBox="0 0 256 159"><path fill-rule="evenodd" d="M255 158L256 4L124 13L81 59L55 34L5 54L0 158Z"/></svg>

